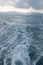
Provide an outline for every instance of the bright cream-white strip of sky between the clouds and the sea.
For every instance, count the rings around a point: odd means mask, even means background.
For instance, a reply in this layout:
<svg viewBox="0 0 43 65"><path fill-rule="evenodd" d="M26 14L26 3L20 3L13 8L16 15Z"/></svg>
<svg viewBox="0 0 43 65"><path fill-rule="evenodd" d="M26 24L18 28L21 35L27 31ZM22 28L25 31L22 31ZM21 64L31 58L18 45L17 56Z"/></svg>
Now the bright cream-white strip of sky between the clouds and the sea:
<svg viewBox="0 0 43 65"><path fill-rule="evenodd" d="M30 8L16 8L13 6L0 6L0 12L19 12L19 13L42 13L43 14L43 10L38 10L38 9L34 9L32 7Z"/></svg>

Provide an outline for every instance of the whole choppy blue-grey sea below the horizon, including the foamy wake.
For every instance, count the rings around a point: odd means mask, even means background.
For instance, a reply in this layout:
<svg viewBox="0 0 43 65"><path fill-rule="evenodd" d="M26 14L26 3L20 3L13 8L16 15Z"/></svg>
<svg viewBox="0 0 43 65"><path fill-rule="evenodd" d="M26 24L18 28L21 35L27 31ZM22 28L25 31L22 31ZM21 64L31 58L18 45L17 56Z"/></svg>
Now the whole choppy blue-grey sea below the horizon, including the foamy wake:
<svg viewBox="0 0 43 65"><path fill-rule="evenodd" d="M39 65L41 56L43 15L0 15L0 65Z"/></svg>

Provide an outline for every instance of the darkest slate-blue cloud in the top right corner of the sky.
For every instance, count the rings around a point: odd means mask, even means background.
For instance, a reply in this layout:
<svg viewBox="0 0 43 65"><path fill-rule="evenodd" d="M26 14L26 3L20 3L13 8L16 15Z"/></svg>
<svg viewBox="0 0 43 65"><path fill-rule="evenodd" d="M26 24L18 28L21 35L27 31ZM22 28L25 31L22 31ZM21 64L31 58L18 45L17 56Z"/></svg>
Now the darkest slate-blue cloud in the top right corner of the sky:
<svg viewBox="0 0 43 65"><path fill-rule="evenodd" d="M28 0L31 7L36 9L43 9L43 0Z"/></svg>

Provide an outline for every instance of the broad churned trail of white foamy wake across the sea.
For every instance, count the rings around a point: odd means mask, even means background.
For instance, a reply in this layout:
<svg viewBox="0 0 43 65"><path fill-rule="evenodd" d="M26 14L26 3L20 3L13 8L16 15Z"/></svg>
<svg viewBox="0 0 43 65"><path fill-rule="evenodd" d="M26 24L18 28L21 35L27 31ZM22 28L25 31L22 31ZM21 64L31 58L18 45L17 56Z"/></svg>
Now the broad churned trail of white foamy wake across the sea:
<svg viewBox="0 0 43 65"><path fill-rule="evenodd" d="M24 28L25 27L23 27L23 29ZM4 65L7 65L10 63L12 65L14 65L14 62L16 60L19 60L19 61L21 60L23 65L30 64L30 60L28 58L29 56L26 51L27 46L29 45L28 38L26 39L25 32L22 28L21 28L22 29L21 32L23 32L23 33L20 33L20 31L18 29L19 29L19 26L18 27L9 26L6 30L4 30L4 28L2 30L2 32L4 32L4 33L1 34L1 39L2 40L4 39L3 40L4 44L2 45L2 49L0 50L0 53L1 53L0 56L2 55L2 58L4 59ZM19 35L21 35L20 36L20 38L22 39L21 41L20 41L20 39L18 39ZM6 38L6 36L7 36L7 38ZM3 55L3 53L4 53L4 55ZM24 55L24 53L25 53L25 55ZM20 55L20 58L19 58L19 55ZM3 59L2 59L2 62L3 62ZM9 60L12 59L12 61L7 62L8 59Z"/></svg>

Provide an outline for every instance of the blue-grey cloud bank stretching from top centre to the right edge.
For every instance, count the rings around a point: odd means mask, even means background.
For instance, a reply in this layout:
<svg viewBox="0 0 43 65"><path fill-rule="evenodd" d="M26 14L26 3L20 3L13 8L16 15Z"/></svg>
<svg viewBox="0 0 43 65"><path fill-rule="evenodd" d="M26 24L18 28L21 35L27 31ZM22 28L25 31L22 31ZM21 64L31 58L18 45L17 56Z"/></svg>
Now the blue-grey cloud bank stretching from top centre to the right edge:
<svg viewBox="0 0 43 65"><path fill-rule="evenodd" d="M33 7L35 9L43 9L43 0L21 0L20 2L16 3L16 7Z"/></svg>

